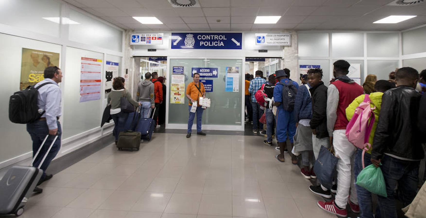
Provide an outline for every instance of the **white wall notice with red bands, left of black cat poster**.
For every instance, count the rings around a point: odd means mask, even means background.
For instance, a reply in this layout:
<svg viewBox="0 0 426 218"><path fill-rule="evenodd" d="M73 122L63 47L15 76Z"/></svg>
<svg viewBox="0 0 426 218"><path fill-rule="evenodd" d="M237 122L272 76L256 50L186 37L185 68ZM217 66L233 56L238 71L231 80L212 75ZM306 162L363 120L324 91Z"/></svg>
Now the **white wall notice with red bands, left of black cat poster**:
<svg viewBox="0 0 426 218"><path fill-rule="evenodd" d="M101 99L102 60L81 58L80 102Z"/></svg>

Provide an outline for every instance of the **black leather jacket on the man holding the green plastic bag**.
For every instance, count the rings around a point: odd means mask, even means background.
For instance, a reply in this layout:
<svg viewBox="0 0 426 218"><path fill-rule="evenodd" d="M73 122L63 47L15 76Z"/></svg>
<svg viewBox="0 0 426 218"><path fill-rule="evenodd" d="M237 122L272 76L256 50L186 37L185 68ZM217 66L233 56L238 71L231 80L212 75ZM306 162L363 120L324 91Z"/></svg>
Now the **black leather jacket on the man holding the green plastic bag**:
<svg viewBox="0 0 426 218"><path fill-rule="evenodd" d="M378 160L389 153L407 159L423 159L422 136L417 127L420 97L414 88L405 85L383 94L371 158Z"/></svg>

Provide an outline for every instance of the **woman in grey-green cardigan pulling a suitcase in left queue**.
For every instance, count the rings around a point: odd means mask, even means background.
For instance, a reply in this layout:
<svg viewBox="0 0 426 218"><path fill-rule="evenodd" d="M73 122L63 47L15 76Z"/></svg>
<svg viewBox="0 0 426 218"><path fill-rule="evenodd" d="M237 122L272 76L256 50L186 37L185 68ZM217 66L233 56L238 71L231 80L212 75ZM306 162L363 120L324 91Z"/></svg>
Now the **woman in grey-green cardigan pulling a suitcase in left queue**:
<svg viewBox="0 0 426 218"><path fill-rule="evenodd" d="M134 105L135 107L140 106L141 104L135 102L130 95L130 92L124 88L124 78L117 77L112 82L112 91L108 94L108 104L111 104L111 114L112 119L114 120L114 136L115 144L118 141L118 133L124 131L124 123L127 120L129 113L121 112L121 97L126 97L127 100Z"/></svg>

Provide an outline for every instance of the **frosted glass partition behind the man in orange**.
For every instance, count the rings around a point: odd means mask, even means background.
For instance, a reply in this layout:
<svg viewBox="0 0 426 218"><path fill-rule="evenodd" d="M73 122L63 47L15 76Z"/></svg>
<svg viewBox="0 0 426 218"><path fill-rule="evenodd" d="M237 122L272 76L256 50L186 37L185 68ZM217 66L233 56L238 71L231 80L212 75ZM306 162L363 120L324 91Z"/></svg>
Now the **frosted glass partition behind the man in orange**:
<svg viewBox="0 0 426 218"><path fill-rule="evenodd" d="M244 98L244 77L243 59L189 59L189 58L170 58L168 59L169 78L167 81L167 102L168 102L168 123L169 129L186 129L188 122L188 99L184 96L184 103L175 104L170 94L170 84L173 82L173 67L183 67L185 92L187 85L193 82L193 68L217 68L217 77L201 77L200 80L210 80L212 91L206 92L206 97L210 98L211 105L203 112L202 125L204 130L243 130L242 122L242 104ZM227 67L238 68L238 87L234 83L233 88L238 90L225 91L226 70ZM234 79L236 77L233 77ZM184 95L184 93L183 93ZM196 129L196 119L193 129Z"/></svg>

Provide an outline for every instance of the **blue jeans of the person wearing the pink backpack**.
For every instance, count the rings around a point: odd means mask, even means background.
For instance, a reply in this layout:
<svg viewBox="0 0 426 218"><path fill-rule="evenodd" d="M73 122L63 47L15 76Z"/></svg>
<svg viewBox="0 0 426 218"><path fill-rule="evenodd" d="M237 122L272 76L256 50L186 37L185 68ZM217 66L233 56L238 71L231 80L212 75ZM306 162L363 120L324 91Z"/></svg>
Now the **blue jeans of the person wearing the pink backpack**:
<svg viewBox="0 0 426 218"><path fill-rule="evenodd" d="M357 182L357 177L360 174L361 170L363 170L363 162L362 162L362 154L363 150L357 149L357 153L355 153L354 160L354 181ZM371 164L371 154L364 154L364 164L367 167ZM360 205L360 217L361 218L374 218L373 216L373 200L371 198L371 192L366 190L363 187L355 184L355 188L357 189L357 197L358 204ZM377 209L378 210L378 209Z"/></svg>

